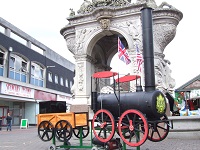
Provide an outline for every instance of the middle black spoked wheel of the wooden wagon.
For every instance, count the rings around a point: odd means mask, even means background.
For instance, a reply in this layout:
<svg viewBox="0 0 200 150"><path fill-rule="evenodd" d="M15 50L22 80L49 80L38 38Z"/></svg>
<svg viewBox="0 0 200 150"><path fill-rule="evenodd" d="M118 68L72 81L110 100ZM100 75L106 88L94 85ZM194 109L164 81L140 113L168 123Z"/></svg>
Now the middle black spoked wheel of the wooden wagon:
<svg viewBox="0 0 200 150"><path fill-rule="evenodd" d="M56 138L61 142L67 142L72 137L72 126L67 120L60 120L55 125Z"/></svg>

